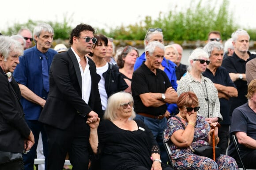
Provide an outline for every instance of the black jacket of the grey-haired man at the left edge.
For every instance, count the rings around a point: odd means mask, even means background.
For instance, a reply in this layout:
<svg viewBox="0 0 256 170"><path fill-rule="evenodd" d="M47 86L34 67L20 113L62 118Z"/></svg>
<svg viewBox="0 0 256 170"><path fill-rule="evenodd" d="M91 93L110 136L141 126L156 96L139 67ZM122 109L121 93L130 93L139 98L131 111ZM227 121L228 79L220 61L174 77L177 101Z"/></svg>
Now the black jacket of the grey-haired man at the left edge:
<svg viewBox="0 0 256 170"><path fill-rule="evenodd" d="M20 94L19 86L13 77L10 83L1 68L0 87L0 150L22 153L24 140L29 136L30 128L26 124L23 108L17 96Z"/></svg>

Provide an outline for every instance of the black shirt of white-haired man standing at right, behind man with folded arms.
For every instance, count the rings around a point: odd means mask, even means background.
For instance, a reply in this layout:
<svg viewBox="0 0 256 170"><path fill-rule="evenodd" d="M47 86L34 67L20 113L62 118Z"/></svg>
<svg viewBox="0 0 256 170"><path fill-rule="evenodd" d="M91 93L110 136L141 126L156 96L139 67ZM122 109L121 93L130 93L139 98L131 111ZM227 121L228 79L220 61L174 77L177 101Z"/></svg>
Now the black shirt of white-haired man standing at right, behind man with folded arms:
<svg viewBox="0 0 256 170"><path fill-rule="evenodd" d="M256 57L256 54L251 54L248 51L250 58L247 61L239 58L234 52L233 56L225 58L222 62L222 67L225 67L228 72L245 74L245 65L248 61ZM235 85L237 87L238 96L237 98L230 98L230 116L235 108L241 106L247 102L245 95L247 94L247 81L236 80Z"/></svg>

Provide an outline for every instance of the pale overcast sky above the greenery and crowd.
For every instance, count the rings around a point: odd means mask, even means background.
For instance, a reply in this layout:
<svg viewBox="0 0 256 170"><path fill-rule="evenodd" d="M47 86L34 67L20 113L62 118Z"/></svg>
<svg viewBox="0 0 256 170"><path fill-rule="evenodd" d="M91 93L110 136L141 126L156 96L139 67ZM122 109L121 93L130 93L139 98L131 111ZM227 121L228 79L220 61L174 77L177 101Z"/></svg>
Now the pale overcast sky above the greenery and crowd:
<svg viewBox="0 0 256 170"><path fill-rule="evenodd" d="M197 4L198 0L194 0ZM63 16L72 18L72 26L79 23L90 24L100 29L133 24L153 19L159 12L166 14L177 5L177 10L189 7L191 0L4 0L0 10L0 31L6 31L14 23L32 21L63 22ZM203 2L207 2L203 0ZM215 1L214 1L215 2ZM220 4L222 0L216 0ZM254 18L255 0L230 0L230 11L234 18L246 28L256 28Z"/></svg>

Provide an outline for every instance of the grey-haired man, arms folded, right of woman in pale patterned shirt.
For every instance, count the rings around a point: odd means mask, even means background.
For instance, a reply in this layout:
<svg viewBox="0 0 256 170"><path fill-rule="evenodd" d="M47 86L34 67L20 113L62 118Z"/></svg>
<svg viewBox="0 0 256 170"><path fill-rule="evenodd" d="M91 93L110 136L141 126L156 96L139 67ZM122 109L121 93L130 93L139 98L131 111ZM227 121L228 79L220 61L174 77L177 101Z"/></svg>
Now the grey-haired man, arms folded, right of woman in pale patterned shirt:
<svg viewBox="0 0 256 170"><path fill-rule="evenodd" d="M211 41L203 47L203 50L209 54L210 60L207 69L203 72L203 76L209 78L218 90L220 113L223 117L220 122L221 127L218 128L218 147L221 148L221 154L226 155L230 128L229 98L237 97L237 89L230 79L229 72L221 66L223 59L222 43Z"/></svg>

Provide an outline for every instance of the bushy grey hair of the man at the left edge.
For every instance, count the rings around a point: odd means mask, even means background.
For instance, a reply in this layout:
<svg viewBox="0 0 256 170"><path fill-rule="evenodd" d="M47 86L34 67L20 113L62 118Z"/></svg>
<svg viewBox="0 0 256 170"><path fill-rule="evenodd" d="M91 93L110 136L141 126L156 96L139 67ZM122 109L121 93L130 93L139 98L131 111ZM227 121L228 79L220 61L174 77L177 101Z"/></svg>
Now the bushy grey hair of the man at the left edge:
<svg viewBox="0 0 256 170"><path fill-rule="evenodd" d="M17 40L12 39L10 36L0 36L0 54L4 56L4 61L7 61L11 52L23 55L23 47Z"/></svg>

